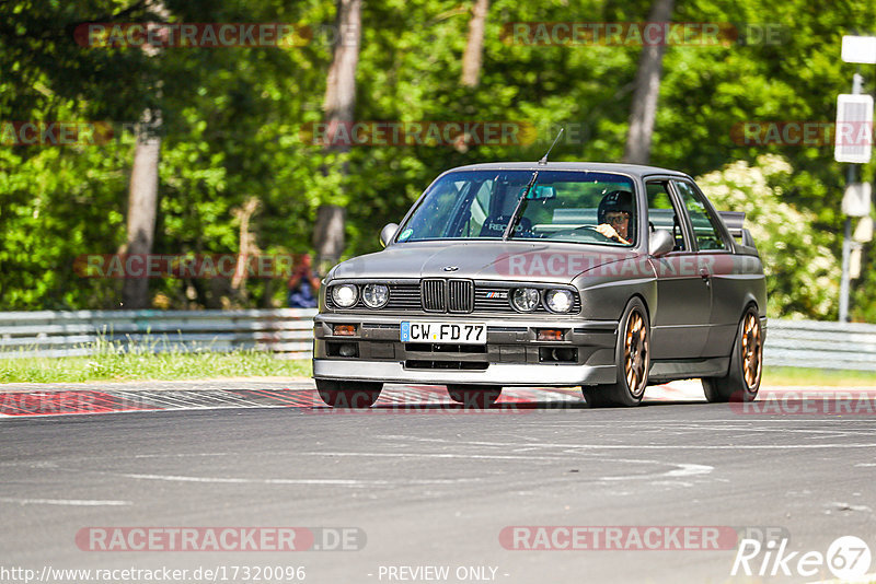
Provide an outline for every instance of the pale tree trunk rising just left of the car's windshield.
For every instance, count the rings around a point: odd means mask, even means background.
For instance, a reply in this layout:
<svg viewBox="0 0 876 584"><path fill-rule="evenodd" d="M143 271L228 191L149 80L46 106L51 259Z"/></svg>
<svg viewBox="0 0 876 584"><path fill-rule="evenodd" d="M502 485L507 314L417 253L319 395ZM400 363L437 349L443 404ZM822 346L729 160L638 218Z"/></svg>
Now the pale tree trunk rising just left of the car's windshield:
<svg viewBox="0 0 876 584"><path fill-rule="evenodd" d="M361 38L361 0L337 0L337 38L332 67L325 86L325 122L328 143L326 152L346 152L348 143L335 143L336 128L350 124L356 108L356 67L359 62ZM326 170L327 172L327 170ZM346 167L339 168L346 174ZM336 262L344 252L344 221L346 210L325 202L316 211L313 227L313 247L318 266Z"/></svg>

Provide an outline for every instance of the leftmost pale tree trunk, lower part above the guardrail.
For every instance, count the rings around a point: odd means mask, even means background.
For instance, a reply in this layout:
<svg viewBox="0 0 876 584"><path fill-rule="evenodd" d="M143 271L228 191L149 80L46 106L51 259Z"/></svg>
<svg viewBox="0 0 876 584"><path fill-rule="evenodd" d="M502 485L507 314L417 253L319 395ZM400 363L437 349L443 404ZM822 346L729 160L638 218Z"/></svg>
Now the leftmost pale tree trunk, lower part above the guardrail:
<svg viewBox="0 0 876 584"><path fill-rule="evenodd" d="M146 110L137 125L137 144L128 188L128 240L125 253L143 255L152 253L155 236L155 209L158 206L158 159L161 151L161 113ZM146 260L140 264L146 266ZM148 308L149 279L128 275L122 287L122 307Z"/></svg>

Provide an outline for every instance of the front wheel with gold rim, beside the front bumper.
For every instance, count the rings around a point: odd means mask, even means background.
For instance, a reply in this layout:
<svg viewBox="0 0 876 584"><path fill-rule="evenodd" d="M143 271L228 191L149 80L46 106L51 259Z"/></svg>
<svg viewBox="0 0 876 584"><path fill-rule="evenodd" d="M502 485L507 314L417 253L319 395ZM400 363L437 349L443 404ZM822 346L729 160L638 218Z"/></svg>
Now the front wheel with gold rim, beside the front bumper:
<svg viewBox="0 0 876 584"><path fill-rule="evenodd" d="M648 385L650 369L650 323L645 304L634 297L618 326L618 347L614 351L618 381L584 389L590 407L638 406Z"/></svg>

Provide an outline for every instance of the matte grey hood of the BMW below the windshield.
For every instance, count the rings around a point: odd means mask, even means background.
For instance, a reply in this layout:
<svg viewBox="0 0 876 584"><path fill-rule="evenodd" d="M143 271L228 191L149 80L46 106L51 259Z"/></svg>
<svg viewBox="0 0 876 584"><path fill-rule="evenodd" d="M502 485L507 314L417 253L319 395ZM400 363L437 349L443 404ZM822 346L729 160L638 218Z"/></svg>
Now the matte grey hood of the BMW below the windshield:
<svg viewBox="0 0 876 584"><path fill-rule="evenodd" d="M631 257L629 249L522 242L396 244L344 261L332 279L472 278L569 283L581 272Z"/></svg>

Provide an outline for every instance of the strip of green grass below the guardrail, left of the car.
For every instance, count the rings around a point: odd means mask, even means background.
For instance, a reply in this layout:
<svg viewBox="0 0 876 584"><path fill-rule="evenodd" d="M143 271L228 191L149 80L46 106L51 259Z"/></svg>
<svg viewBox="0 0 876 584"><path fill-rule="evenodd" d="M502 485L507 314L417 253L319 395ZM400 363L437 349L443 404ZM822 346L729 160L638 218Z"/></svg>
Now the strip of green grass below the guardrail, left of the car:
<svg viewBox="0 0 876 584"><path fill-rule="evenodd" d="M0 353L0 383L78 383L97 381L176 381L210 377L309 377L309 360L276 359L256 350L211 352L171 349L153 353L148 346L100 341L88 357L22 357Z"/></svg>

